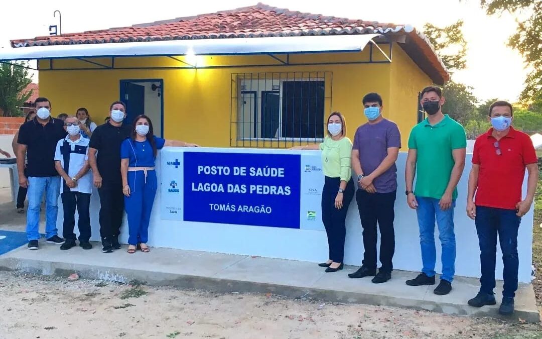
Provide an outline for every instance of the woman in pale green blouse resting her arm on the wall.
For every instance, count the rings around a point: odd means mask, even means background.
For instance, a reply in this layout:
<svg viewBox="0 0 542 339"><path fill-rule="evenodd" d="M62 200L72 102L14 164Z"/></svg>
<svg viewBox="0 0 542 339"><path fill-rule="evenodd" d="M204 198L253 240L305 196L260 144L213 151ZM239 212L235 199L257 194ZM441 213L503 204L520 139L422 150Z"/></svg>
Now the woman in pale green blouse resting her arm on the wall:
<svg viewBox="0 0 542 339"><path fill-rule="evenodd" d="M326 272L343 269L346 212L354 196L351 153L352 142L346 137L346 121L339 112L327 118L327 136L315 145L297 146L297 150L321 150L325 182L322 189L322 222L330 248L329 259L318 264Z"/></svg>

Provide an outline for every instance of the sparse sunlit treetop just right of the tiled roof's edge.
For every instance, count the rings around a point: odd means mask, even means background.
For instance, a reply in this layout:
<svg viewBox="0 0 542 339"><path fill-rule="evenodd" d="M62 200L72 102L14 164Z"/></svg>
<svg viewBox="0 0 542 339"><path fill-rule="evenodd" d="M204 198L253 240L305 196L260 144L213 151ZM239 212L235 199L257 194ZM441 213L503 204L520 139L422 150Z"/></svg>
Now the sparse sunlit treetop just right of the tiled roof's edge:
<svg viewBox="0 0 542 339"><path fill-rule="evenodd" d="M467 67L467 41L463 37L463 21L440 28L431 23L423 25L424 33L450 73Z"/></svg>

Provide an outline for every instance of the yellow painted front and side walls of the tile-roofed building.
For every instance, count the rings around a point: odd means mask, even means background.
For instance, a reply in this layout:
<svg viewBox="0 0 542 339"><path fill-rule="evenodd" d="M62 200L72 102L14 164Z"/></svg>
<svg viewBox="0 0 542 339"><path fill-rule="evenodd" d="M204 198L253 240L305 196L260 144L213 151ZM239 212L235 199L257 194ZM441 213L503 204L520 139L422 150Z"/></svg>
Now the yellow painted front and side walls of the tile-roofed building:
<svg viewBox="0 0 542 339"><path fill-rule="evenodd" d="M399 124L404 131L410 130L415 123L414 110L412 119L403 116L406 113L405 103L408 95L414 95L408 103L415 104L416 93L423 85L430 84L427 76L401 54L401 48L394 48L393 63L367 63L351 65L314 65L314 66L273 66L214 69L147 69L147 70L76 70L76 71L42 71L39 72L40 95L51 100L53 114L67 112L74 114L76 108L87 107L92 118L101 123L108 114L109 104L119 99L119 81L121 79L164 79L162 95L164 97L164 136L168 139L188 140L202 146L229 147L230 130L235 144L236 129L231 129L232 73L256 72L331 72L332 84L326 81L326 92L332 89L331 100L326 100L327 116L330 111L340 111L348 124L348 136L353 138L357 126L366 122L363 114L362 98L367 92L378 92L382 95L386 110L384 115ZM378 60L373 50L373 60ZM285 59L285 56L281 56ZM291 62L326 62L326 61L360 61L367 60L369 49L362 53L343 53L326 55L295 55ZM180 60L184 57L179 57ZM94 60L94 59L89 59ZM96 59L98 60L98 59ZM380 60L382 58L380 57ZM396 61L397 60L397 61ZM188 62L188 60L186 60ZM191 60L193 62L193 60ZM108 60L100 63L109 65ZM269 56L197 56L201 65L243 65L278 64L279 61ZM396 65L397 62L397 65ZM87 64L87 65L85 65ZM147 66L184 66L182 63L166 57L115 59L115 67ZM40 68L48 68L49 62L41 62ZM55 68L89 67L93 65L78 60L54 60ZM414 84L412 90L402 88L407 79ZM419 86L418 86L419 84ZM408 84L406 84L408 85ZM421 86L421 87L420 87ZM416 89L414 89L416 87ZM420 88L418 88L420 87ZM414 93L414 94L412 94ZM326 94L327 96L327 94ZM400 99L402 103L392 103L391 99ZM386 103L390 103L388 106ZM410 114L410 110L409 110ZM404 136L403 136L404 138ZM403 139L404 142L404 139ZM298 143L299 144L299 143ZM292 143L279 144L291 146ZM243 146L269 146L261 141L245 142ZM273 143L277 147L276 142Z"/></svg>

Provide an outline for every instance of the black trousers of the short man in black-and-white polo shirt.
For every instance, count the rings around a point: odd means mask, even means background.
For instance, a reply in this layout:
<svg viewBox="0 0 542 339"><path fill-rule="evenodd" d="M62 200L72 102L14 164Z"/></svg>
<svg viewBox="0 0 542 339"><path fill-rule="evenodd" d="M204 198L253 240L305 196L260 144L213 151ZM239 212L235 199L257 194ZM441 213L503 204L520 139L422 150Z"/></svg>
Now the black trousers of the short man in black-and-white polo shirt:
<svg viewBox="0 0 542 339"><path fill-rule="evenodd" d="M75 240L73 229L75 227L75 207L77 207L79 241L88 242L91 239L91 195L89 193L66 191L60 197L64 209L62 235L66 240Z"/></svg>

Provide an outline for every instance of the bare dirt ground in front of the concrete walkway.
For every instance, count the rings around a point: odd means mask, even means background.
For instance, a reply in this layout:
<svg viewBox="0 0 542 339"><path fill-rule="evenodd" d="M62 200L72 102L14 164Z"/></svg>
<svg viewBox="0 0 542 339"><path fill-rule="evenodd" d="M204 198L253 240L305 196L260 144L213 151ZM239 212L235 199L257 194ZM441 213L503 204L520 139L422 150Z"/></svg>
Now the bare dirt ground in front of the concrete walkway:
<svg viewBox="0 0 542 339"><path fill-rule="evenodd" d="M542 338L537 324L0 272L0 338Z"/></svg>

